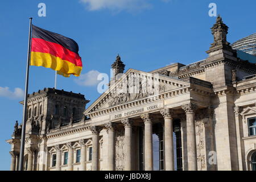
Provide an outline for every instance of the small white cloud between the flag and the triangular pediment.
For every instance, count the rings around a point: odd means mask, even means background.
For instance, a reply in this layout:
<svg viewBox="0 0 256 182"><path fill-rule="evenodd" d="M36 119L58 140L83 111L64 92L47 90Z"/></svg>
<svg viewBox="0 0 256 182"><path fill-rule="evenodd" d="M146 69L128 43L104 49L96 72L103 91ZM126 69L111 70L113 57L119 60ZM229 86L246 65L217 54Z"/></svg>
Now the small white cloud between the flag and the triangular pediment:
<svg viewBox="0 0 256 182"><path fill-rule="evenodd" d="M91 70L87 73L81 74L79 78L75 79L75 82L81 86L96 86L100 80L97 80L100 72L97 70Z"/></svg>

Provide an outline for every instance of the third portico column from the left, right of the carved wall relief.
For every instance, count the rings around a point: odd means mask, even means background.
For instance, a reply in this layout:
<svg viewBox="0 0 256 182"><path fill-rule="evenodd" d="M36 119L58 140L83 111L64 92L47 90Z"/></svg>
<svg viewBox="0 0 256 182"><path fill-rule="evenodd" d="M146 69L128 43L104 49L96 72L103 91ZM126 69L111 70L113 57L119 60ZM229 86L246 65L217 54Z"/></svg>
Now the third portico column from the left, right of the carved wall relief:
<svg viewBox="0 0 256 182"><path fill-rule="evenodd" d="M131 148L131 137L132 137L132 119L125 118L121 120L123 126L125 126L125 171L131 171L131 155L132 155L132 148Z"/></svg>

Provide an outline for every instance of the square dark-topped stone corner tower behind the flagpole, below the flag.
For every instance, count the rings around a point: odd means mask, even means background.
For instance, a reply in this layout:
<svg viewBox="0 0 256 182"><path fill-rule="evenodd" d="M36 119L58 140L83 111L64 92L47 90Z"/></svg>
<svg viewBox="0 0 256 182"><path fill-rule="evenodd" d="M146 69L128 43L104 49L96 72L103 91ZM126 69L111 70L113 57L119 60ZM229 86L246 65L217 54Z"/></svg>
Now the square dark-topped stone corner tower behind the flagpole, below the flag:
<svg viewBox="0 0 256 182"><path fill-rule="evenodd" d="M43 135L52 129L81 121L88 102L80 93L54 88L28 94L26 133Z"/></svg>

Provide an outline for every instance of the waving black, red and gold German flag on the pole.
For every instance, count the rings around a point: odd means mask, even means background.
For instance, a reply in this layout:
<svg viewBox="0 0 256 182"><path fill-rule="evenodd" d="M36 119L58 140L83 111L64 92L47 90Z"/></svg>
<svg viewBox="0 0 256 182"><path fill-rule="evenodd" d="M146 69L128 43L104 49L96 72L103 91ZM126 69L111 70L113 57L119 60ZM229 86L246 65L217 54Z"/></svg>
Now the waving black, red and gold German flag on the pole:
<svg viewBox="0 0 256 182"><path fill-rule="evenodd" d="M51 68L60 75L79 76L82 61L75 40L32 25L30 65Z"/></svg>

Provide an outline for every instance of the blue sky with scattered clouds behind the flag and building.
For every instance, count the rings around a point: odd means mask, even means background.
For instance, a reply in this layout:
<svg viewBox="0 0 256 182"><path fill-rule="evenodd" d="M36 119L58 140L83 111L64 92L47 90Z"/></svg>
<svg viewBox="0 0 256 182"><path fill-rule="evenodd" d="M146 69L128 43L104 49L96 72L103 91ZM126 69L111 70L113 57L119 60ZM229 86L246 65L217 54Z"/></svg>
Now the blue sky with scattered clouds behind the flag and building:
<svg viewBox="0 0 256 182"><path fill-rule="evenodd" d="M46 17L38 16L38 4L46 4ZM208 15L209 3L229 26L228 41L256 32L254 0L61 0L1 1L0 51L0 170L10 168L10 139L15 121L21 122L26 72L28 18L49 31L76 40L83 69L78 78L58 76L57 88L85 94L92 104L98 73L110 74L119 53L126 70L151 71L170 63L189 64L205 59L216 17ZM54 86L55 72L30 68L29 92ZM89 106L88 105L88 106Z"/></svg>

